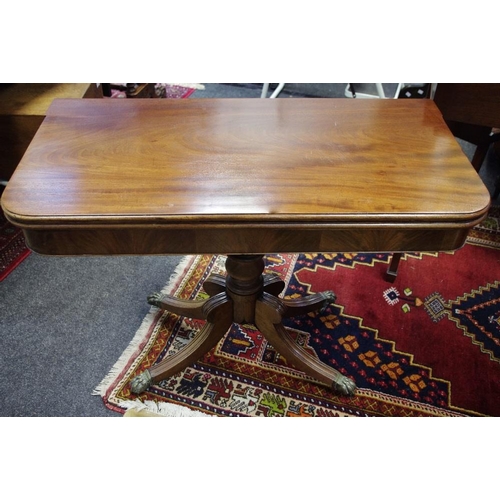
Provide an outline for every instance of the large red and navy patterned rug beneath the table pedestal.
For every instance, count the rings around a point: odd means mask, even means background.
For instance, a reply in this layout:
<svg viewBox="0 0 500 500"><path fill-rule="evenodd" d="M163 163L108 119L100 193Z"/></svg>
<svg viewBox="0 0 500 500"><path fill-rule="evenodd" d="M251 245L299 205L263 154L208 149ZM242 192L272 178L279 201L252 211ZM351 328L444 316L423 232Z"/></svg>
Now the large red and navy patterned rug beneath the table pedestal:
<svg viewBox="0 0 500 500"><path fill-rule="evenodd" d="M500 210L450 253L278 254L266 272L297 297L332 289L337 303L286 320L311 356L351 377L344 397L290 366L250 325L233 325L199 362L136 396L130 380L188 343L202 322L152 308L95 393L118 412L217 416L500 416ZM224 257L188 257L165 292L204 298ZM129 410L130 411L130 410ZM206 415L205 415L206 414Z"/></svg>

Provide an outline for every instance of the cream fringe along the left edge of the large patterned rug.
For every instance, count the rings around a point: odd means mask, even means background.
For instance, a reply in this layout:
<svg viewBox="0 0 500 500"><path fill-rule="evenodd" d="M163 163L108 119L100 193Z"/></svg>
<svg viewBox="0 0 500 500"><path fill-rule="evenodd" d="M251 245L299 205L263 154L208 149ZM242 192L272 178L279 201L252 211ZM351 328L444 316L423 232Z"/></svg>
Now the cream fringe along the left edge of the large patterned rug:
<svg viewBox="0 0 500 500"><path fill-rule="evenodd" d="M181 259L174 272L170 276L170 279L166 286L162 289L161 293L168 294L174 288L177 280L181 276L182 272L185 268L187 268L189 261L193 258L192 255L187 255ZM116 378L122 373L122 371L127 366L127 362L130 360L132 355L137 351L142 341L144 340L146 334L149 331L149 327L154 319L154 317L158 314L159 309L155 306L151 306L148 314L143 319L141 326L137 330L134 335L134 338L130 341L129 345L123 351L122 355L118 359L118 361L113 365L109 373L101 380L99 385L92 391L92 396L101 396L103 397L106 394L106 391L111 386L111 384L116 380Z"/></svg>

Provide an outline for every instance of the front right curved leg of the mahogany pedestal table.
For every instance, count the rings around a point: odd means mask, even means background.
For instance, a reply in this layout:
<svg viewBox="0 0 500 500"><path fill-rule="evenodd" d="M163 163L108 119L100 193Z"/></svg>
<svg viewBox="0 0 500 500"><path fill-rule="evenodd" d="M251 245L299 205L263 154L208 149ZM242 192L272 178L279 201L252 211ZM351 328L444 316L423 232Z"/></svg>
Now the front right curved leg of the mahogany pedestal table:
<svg viewBox="0 0 500 500"><path fill-rule="evenodd" d="M255 323L260 332L296 368L337 392L346 396L353 395L356 384L351 379L311 357L295 343L281 323L285 308L284 301L264 293L262 298L257 301L255 312Z"/></svg>

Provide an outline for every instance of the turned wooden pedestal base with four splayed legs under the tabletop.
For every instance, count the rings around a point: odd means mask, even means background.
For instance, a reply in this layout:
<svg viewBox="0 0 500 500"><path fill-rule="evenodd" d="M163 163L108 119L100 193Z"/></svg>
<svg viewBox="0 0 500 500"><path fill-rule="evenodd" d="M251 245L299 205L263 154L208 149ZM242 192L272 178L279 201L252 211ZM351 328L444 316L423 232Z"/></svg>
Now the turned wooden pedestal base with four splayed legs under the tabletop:
<svg viewBox="0 0 500 500"><path fill-rule="evenodd" d="M141 393L152 383L197 361L215 347L236 322L254 324L296 368L335 391L354 394L356 385L351 379L307 354L282 324L285 317L307 314L334 303L335 294L325 291L299 299L282 299L278 295L285 283L276 276L264 275L263 270L262 255L230 255L226 260L227 277L212 275L203 285L209 299L192 301L161 293L150 295L150 304L181 316L206 320L206 324L184 349L135 377L132 391Z"/></svg>

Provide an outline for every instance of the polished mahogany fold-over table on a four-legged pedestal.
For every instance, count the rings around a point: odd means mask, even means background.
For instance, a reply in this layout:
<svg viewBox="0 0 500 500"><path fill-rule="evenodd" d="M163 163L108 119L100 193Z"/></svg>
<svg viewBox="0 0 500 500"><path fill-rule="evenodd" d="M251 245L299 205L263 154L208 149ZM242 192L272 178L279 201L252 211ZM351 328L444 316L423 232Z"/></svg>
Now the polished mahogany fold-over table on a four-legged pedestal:
<svg viewBox="0 0 500 500"><path fill-rule="evenodd" d="M206 320L132 390L199 359L233 322L343 394L354 382L281 323L331 291L280 298L263 255L446 251L487 214L488 191L430 100L55 100L2 198L49 255L225 254L209 298L149 302Z"/></svg>

